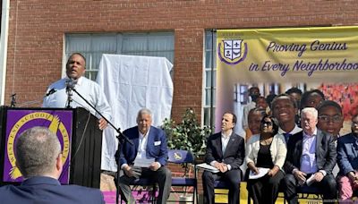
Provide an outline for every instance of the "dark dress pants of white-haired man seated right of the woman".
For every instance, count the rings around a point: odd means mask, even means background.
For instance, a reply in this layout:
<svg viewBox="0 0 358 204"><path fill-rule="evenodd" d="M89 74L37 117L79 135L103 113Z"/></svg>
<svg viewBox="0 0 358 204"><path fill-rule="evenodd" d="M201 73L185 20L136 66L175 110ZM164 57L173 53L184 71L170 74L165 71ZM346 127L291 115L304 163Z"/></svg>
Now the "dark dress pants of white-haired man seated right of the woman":
<svg viewBox="0 0 358 204"><path fill-rule="evenodd" d="M309 178L311 174L306 177ZM285 198L289 204L298 203L296 187L298 186L294 174L286 174L282 180L285 189ZM312 183L311 186L318 187L323 190L323 203L332 203L337 199L337 183L333 174L327 174L319 183Z"/></svg>

